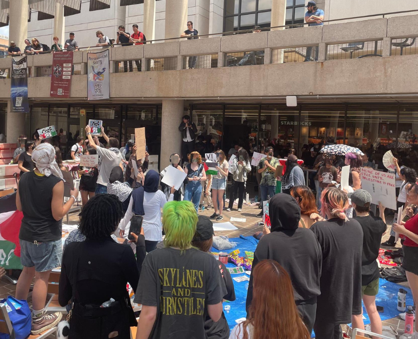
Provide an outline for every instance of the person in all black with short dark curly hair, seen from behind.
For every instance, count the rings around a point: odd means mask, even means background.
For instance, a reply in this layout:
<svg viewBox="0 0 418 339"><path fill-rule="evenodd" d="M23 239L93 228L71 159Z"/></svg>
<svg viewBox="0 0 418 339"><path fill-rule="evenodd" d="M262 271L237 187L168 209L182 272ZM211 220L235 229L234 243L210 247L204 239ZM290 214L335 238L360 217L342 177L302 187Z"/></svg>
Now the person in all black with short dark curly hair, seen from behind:
<svg viewBox="0 0 418 339"><path fill-rule="evenodd" d="M72 301L69 339L130 337L137 321L126 284L137 289L139 274L132 249L112 240L123 216L122 203L114 195L91 198L80 213L79 229L87 238L72 242L62 257L58 300ZM114 302L109 308L103 303Z"/></svg>

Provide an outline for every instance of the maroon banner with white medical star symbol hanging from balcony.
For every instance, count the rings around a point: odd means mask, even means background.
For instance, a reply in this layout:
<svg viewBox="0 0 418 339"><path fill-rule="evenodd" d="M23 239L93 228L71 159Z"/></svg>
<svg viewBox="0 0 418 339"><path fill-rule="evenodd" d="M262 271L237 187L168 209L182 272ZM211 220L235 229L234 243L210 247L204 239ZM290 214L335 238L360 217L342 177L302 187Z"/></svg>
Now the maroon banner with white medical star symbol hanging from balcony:
<svg viewBox="0 0 418 339"><path fill-rule="evenodd" d="M57 52L52 57L51 91L52 98L69 98L73 70L73 52Z"/></svg>

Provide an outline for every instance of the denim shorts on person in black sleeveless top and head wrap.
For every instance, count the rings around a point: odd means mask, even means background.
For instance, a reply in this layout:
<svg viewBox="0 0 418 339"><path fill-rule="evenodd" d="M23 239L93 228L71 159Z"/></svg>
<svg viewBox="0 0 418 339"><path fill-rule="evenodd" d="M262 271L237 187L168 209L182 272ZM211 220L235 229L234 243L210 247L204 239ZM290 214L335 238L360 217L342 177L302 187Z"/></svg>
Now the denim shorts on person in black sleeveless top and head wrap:
<svg viewBox="0 0 418 339"><path fill-rule="evenodd" d="M45 272L61 266L62 242L60 240L33 244L19 239L23 266L35 266L36 272Z"/></svg>

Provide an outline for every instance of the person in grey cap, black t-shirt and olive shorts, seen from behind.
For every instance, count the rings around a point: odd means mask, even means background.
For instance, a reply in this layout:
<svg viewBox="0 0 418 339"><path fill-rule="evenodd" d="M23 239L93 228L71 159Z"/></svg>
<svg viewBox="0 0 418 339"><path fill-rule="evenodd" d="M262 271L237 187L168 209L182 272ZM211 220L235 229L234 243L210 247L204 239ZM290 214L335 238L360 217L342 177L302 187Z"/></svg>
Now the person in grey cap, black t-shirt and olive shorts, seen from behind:
<svg viewBox="0 0 418 339"><path fill-rule="evenodd" d="M386 232L385 207L379 201L380 217L369 214L372 197L364 190L351 195L351 205L356 210L354 218L363 229L363 253L361 256L361 291L363 303L371 323L371 331L382 334L382 320L376 309L376 295L379 292L379 256L382 234ZM353 315L353 328L364 330L362 314Z"/></svg>

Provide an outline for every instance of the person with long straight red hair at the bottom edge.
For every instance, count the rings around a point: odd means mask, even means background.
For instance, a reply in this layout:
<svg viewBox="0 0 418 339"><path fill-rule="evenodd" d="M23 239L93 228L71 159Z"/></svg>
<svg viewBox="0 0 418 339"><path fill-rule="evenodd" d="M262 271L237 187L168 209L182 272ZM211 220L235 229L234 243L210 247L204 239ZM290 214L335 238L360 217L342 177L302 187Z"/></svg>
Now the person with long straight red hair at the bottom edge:
<svg viewBox="0 0 418 339"><path fill-rule="evenodd" d="M229 339L308 339L299 316L289 274L276 261L262 260L252 271L254 297L247 319Z"/></svg>

